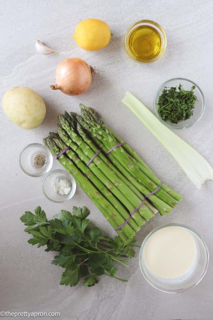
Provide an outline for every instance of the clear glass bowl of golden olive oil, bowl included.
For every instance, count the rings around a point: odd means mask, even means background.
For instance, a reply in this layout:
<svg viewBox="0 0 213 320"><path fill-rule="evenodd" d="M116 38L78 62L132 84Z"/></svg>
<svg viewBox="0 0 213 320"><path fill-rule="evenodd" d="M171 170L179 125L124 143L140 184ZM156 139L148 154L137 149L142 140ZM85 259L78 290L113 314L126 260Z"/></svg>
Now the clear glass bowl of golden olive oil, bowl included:
<svg viewBox="0 0 213 320"><path fill-rule="evenodd" d="M166 49L166 35L162 27L152 20L135 22L126 31L124 46L131 59L150 63L159 59Z"/></svg>

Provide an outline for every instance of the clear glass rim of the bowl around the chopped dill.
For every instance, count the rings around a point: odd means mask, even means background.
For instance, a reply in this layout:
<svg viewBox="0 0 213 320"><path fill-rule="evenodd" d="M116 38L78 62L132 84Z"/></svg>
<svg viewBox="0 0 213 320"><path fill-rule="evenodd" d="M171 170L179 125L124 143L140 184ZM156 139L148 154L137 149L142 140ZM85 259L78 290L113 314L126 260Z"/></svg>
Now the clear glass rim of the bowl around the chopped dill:
<svg viewBox="0 0 213 320"><path fill-rule="evenodd" d="M176 81L176 80L177 80L177 81L178 81L178 80L184 80L184 81L186 81L186 82L190 82L191 84L194 84L195 87L196 87L196 88L198 89L198 91L200 92L201 97L202 97L202 110L201 110L200 116L199 116L198 119L196 119L193 123L188 124L188 125L186 125L185 127L176 127L176 126L174 126L174 125L172 125L172 124L166 123L166 122L159 116L159 114L158 114L158 112L157 112L157 96L158 96L158 93L159 93L159 92L166 86L166 84L168 84L170 81ZM204 113L205 108L206 108L206 103L205 103L204 94L203 94L201 88L199 87L199 85L197 85L197 84L196 84L194 81L192 81L192 80L189 80L189 79L187 79L187 78L179 78L179 77L178 77L178 78L169 79L169 80L165 81L163 84L161 84L161 85L159 86L159 88L158 88L157 91L156 91L155 97L154 97L153 105L154 105L155 115L156 115L156 117L158 118L158 120L160 120L160 122L161 122L162 124L164 124L166 127L170 128L170 129L177 129L177 130L187 129L187 128L192 127L194 124L196 124L196 123L202 118L203 113Z"/></svg>

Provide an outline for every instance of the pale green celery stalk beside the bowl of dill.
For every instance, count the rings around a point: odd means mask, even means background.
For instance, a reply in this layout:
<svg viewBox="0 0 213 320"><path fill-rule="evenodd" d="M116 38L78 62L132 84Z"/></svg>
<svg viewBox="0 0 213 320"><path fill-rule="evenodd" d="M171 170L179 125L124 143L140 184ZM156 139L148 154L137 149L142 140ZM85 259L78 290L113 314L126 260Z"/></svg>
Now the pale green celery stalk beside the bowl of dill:
<svg viewBox="0 0 213 320"><path fill-rule="evenodd" d="M210 164L196 150L162 124L132 93L126 92L122 102L171 153L198 189L206 180L213 180L213 169Z"/></svg>

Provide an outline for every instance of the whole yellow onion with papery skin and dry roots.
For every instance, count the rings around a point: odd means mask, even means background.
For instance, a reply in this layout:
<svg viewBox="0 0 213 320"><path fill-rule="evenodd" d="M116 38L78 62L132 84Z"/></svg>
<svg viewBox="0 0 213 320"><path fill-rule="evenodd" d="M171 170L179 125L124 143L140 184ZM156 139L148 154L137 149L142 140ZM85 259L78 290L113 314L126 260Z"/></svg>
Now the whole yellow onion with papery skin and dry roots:
<svg viewBox="0 0 213 320"><path fill-rule="evenodd" d="M50 88L59 89L69 96L75 96L89 89L94 74L95 70L84 60L69 58L58 65L56 84L50 85Z"/></svg>

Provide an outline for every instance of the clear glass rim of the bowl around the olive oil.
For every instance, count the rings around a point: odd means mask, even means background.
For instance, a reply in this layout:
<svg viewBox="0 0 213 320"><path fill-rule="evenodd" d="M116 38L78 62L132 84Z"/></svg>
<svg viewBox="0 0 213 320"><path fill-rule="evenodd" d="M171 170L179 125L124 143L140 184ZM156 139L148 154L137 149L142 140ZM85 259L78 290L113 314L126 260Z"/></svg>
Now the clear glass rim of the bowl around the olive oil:
<svg viewBox="0 0 213 320"><path fill-rule="evenodd" d="M151 25L153 25L154 27L157 27L161 30L163 36L164 36L164 46L162 47L161 49L161 52L152 60L148 60L146 62L142 62L142 61L138 61L136 59L133 58L133 56L131 55L130 51L128 50L128 46L127 46L127 38L128 38L128 35L129 35L129 32L130 30L137 26L138 24L140 23L149 23ZM142 63L142 64L147 64L147 63L151 63L151 62L154 62L156 60L158 60L164 53L165 49L166 49L166 46L167 46L167 37L166 37L166 34L165 34L165 31L164 29L161 27L161 25L159 25L157 22L155 22L154 20L148 20L148 19L142 19L142 20L138 20L136 22L134 22L127 30L126 30L126 33L125 33L125 36L124 36L124 47L125 47L125 50L126 50L126 53L128 54L128 56L133 60L133 61L136 61L138 63Z"/></svg>

